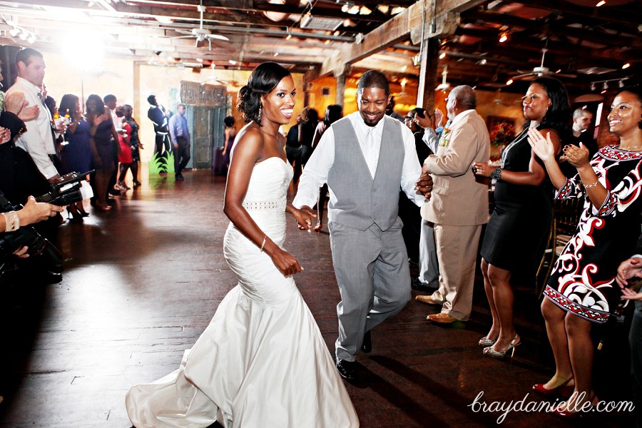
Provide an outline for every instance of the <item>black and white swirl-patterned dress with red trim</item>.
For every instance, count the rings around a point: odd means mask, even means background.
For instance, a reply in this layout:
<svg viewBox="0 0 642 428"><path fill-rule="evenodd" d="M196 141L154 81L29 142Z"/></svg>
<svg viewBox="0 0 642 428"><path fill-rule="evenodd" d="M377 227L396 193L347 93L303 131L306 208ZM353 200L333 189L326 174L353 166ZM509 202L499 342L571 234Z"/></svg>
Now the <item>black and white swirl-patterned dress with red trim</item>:
<svg viewBox="0 0 642 428"><path fill-rule="evenodd" d="M621 296L618 265L631 257L641 231L642 152L602 148L591 160L608 193L601 206L586 198L576 232L556 261L544 296L585 320L604 323ZM584 196L579 176L566 180L556 198Z"/></svg>

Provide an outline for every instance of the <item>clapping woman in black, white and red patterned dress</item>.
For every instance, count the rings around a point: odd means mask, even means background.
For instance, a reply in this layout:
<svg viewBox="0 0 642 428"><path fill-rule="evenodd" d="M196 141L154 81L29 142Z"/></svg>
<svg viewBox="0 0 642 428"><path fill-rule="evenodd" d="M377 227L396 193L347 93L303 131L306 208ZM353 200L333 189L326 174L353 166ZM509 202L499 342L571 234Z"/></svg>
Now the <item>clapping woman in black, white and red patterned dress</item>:
<svg viewBox="0 0 642 428"><path fill-rule="evenodd" d="M576 233L557 260L541 312L553 349L556 372L534 389L545 394L574 383L574 394L554 413L573 417L597 398L591 387L593 342L591 325L603 324L621 297L614 276L620 260L633 253L640 233L642 210L642 93L618 93L608 113L611 133L619 146L606 146L588 160L581 145L564 147L563 158L578 173L569 180L557 165L550 138L529 132L529 143L544 161L556 198L586 198Z"/></svg>

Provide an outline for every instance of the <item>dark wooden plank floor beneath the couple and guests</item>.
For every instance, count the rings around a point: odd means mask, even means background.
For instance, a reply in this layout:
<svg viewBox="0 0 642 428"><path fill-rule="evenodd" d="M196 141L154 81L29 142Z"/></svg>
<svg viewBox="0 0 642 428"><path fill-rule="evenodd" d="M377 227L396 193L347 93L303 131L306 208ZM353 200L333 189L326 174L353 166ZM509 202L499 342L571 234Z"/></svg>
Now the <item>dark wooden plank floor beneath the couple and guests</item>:
<svg viewBox="0 0 642 428"><path fill-rule="evenodd" d="M128 388L178 367L235 285L222 251L224 178L205 170L184 175L182 183L173 176L144 178L142 188L116 197L111 213L87 204L91 215L83 223L60 228L66 258L60 284L0 290L0 427L130 427ZM300 233L292 221L288 228L287 250L305 267L297 285L333 353L339 293L329 236ZM502 412L472 407L475 397L509 404L548 379L551 354L534 292L516 290L524 345L504 362L483 357L477 346L489 328L481 284L474 302L465 328L432 325L426 315L436 310L413 300L373 330L373 352L359 357L367 382L347 384L362 427L494 426ZM616 326L603 335L608 341L596 360L596 389L605 400L631 398L625 330ZM632 424L625 412L584 420ZM571 424L522 411L510 412L501 425Z"/></svg>

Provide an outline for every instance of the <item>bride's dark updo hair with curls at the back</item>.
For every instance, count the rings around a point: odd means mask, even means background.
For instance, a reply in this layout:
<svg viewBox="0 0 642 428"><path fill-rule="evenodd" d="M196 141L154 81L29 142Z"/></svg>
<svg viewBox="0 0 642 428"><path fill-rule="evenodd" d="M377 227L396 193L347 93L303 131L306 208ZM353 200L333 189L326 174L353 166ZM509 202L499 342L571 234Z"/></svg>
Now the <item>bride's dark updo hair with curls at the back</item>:
<svg viewBox="0 0 642 428"><path fill-rule="evenodd" d="M274 62L262 63L254 69L248 84L240 88L237 108L243 113L245 123L255 121L261 125L261 96L272 92L290 71Z"/></svg>

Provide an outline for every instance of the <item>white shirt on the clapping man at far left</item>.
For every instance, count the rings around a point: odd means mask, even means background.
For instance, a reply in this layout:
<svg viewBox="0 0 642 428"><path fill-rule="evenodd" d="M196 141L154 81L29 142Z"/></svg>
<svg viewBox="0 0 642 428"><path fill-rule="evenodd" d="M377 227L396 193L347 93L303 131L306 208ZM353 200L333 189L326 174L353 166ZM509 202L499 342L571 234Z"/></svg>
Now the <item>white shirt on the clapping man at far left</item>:
<svg viewBox="0 0 642 428"><path fill-rule="evenodd" d="M40 89L33 83L21 77L16 78L16 83L6 91L6 95L16 92L24 93L27 107L39 106L40 108L37 118L25 122L27 130L18 138L16 146L29 153L42 175L49 180L58 174L58 170L49 158L49 155L56 154L54 136L51 133L51 113L41 101Z"/></svg>

